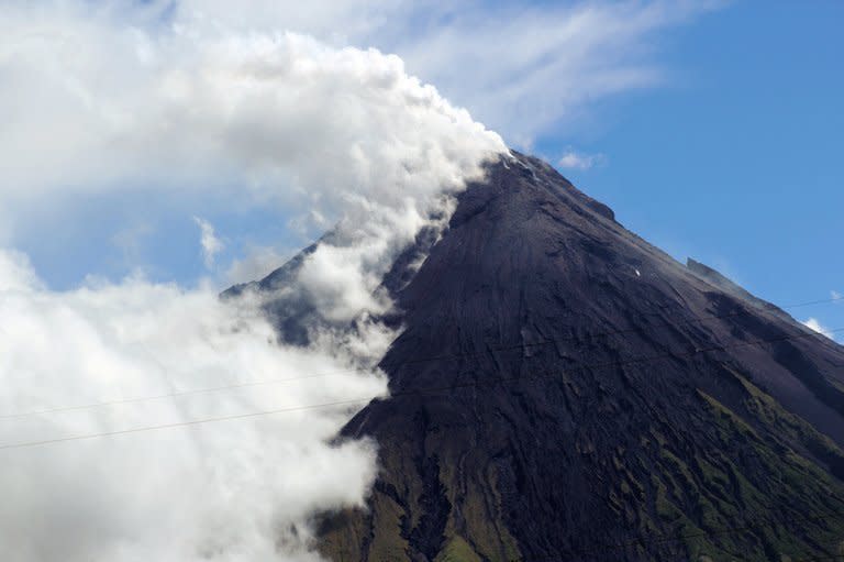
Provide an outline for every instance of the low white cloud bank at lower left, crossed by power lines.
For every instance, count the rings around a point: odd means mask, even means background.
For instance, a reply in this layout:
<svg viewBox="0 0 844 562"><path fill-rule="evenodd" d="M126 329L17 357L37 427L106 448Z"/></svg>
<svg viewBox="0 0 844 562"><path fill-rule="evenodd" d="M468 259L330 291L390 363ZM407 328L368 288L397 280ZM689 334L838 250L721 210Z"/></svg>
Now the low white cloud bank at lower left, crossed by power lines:
<svg viewBox="0 0 844 562"><path fill-rule="evenodd" d="M24 256L0 252L0 447L366 400L386 390L379 376L346 373L8 417L336 373L379 356L389 342L376 331L365 340L322 333L309 349L279 346L253 310L208 289L137 278L52 293ZM348 407L318 408L2 451L3 558L315 560L307 550L309 517L359 505L376 473L370 443L327 444L347 417Z"/></svg>

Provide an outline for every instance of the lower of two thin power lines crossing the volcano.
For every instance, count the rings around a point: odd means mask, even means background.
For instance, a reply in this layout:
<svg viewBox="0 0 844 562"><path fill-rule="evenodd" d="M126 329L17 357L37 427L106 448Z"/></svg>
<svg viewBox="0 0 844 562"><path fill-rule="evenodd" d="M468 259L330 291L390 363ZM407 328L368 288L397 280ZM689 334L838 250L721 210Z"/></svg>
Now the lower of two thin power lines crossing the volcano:
<svg viewBox="0 0 844 562"><path fill-rule="evenodd" d="M837 333L837 332L844 332L844 328L836 328L834 330L829 330L829 333ZM609 366L624 366L624 365L631 365L636 363L647 363L652 361L658 361L662 359L670 359L670 357L684 357L684 356L695 356L701 353L709 353L713 351L725 351L730 349L737 349L737 348L744 348L744 346L751 346L751 345L763 345L766 343L779 343L784 341L792 341L792 340L799 340L799 339L806 339L806 338L817 338L817 337L825 337L824 334L812 332L812 333L801 333L801 334L795 334L795 335L782 335L779 338L770 338L765 340L756 340L751 342L741 342L737 344L732 345L713 345L710 348L699 348L696 349L692 352L685 352L685 353L675 353L675 352L666 352L662 353L659 355L651 355L645 357L635 357L625 361L618 361L618 362L604 362L604 363L595 363L591 365L581 365L579 367L570 368L570 370L563 370L560 372L545 372L545 375L558 375L560 373L570 373L573 371L582 371L587 368L603 368ZM470 383L463 383L457 385L447 385L447 386L441 386L441 387L432 387L432 388L422 388L417 390L407 390L407 392L400 392L400 393L393 393L389 396L389 398L403 398L408 396L419 396L424 394L435 394L441 393L445 390L456 390L458 388L467 388L473 386L480 386L481 384L500 384L500 383L510 383L510 382L517 382L517 381L525 381L530 378L537 378L535 376L515 376L515 377L503 377L492 381L484 381L484 382L470 382ZM179 421L179 422L173 422L173 423L164 423L158 426L144 426L140 428L132 428L132 429L124 429L124 430L116 430L116 431L103 431L99 433L88 433L88 434L79 434L79 436L69 436L64 438L55 438L55 439L45 439L45 440L38 440L38 441L24 441L20 443L7 443L7 444L0 444L0 450L9 450L9 449L23 449L23 448L30 448L30 447L38 447L38 445L46 445L52 443L62 443L67 441L81 441L81 440L88 440L88 439L95 439L95 438L102 438L102 437L112 437L112 436L122 436L127 433L141 433L145 431L156 431L156 430L163 430L163 429L171 429L171 428L178 428L178 427L186 427L186 426L198 426L203 423L213 423L218 421L227 421L227 420L236 420L236 419L246 419L246 418L257 418L257 417L264 417L264 416L271 416L275 414L284 414L284 412L290 412L290 411L303 411L303 410L313 410L313 409L320 409L320 408L329 408L329 407L336 407L336 406L351 406L354 404L360 404L360 403L367 403L373 400L371 397L362 397L362 398L355 398L355 399L348 399L348 400L337 400L332 403L321 403L321 404L312 404L312 405L306 405L306 406L292 406L288 408L277 408L277 409L270 409L270 410L263 410L263 411L254 411L254 412L245 412L245 414L237 414L237 415L231 415L231 416L219 416L219 417L212 417L212 418L202 418L197 420L189 420L189 421Z"/></svg>

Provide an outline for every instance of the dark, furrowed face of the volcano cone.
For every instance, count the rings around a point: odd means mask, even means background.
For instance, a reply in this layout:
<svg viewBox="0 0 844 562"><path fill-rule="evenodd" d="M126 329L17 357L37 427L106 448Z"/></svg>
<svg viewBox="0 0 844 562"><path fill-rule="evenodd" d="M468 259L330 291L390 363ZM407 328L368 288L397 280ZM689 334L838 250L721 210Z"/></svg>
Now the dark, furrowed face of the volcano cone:
<svg viewBox="0 0 844 562"><path fill-rule="evenodd" d="M377 440L382 470L368 509L322 518L326 558L842 552L843 348L535 158L491 166L433 242L385 279L393 396L344 429Z"/></svg>

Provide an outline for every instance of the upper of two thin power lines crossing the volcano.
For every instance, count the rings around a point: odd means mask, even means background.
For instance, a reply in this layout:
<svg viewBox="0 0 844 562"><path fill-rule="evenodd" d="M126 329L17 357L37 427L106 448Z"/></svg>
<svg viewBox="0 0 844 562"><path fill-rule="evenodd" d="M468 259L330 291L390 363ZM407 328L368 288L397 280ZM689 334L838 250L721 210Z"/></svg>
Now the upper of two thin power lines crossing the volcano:
<svg viewBox="0 0 844 562"><path fill-rule="evenodd" d="M792 308L800 308L800 307L808 307L812 305L822 305L822 304L829 304L829 302L835 302L835 301L843 301L844 296L836 296L828 299L820 299L820 300L811 300L806 302L799 302L796 305L789 305L787 307L776 307L775 305L770 305L769 309L763 308L762 310L771 310L776 311L781 309L792 309ZM679 324L692 324L698 322L708 322L710 320L723 320L728 318L737 318L746 315L751 315L753 312L757 312L759 309L742 309L738 311L733 311L724 315L711 315L707 317L693 317L691 320L686 320L680 322ZM675 327L678 326L677 323L670 323L670 322L663 322L662 324L656 326L649 326L647 329L657 329L657 328L665 328L665 327ZM613 330L613 331L606 331L606 332L597 332L597 333L586 333L582 335L569 335L566 338L557 338L557 339L548 339L543 340L540 342L534 343L521 343L521 344L511 344L511 345L500 345L497 348L488 348L485 351L478 351L478 352L471 352L471 353L455 353L455 354L441 354L441 355L430 355L425 357L418 357L414 360L409 360L402 362L400 365L415 365L420 363L429 363L432 361L443 361L443 360L457 360L457 359L466 359L466 357L473 357L473 356L481 356L487 355L489 353L493 352L502 352L502 351L514 351L514 350L525 350L525 349L533 349L533 348L540 348L544 345L551 345L554 343L563 343L567 341L574 341L582 338L588 339L597 339L597 338L606 338L606 337L612 337L612 335L623 335L623 334L632 334L641 332L644 328L626 328L624 330ZM826 333L834 333L834 331L828 331ZM295 381L306 381L311 378L324 378L324 377L331 377L331 376L341 376L341 375L351 375L351 374L366 374L370 371L359 368L359 367L353 367L353 368L345 368L345 370L337 370L326 373L314 373L310 375L300 375L300 376L292 376L292 377L285 377L285 378L268 378L268 379L260 379L260 381L249 381L244 383L235 383L235 384L229 384L229 385L220 385L220 386L213 386L213 387L206 387L206 388L197 388L197 389L189 389L189 390L179 390L179 392L173 392L173 393L166 393L166 394L158 394L158 395L152 395L152 396L141 396L141 397L134 397L134 398L121 398L121 399L114 399L114 400L102 400L97 403L89 403L84 405L76 405L76 406L60 406L55 408L44 408L38 410L29 410L29 411L21 411L21 412L12 412L12 414L2 414L0 415L0 420L2 419L13 419L13 418L24 418L24 417L31 417L31 416L43 416L47 414L60 414L60 412L67 412L67 411L78 411L78 410L87 410L92 408L102 408L107 406L120 406L120 405L126 405L126 404L137 404L137 403L144 403L144 401L153 401L153 400L160 400L166 398L179 398L182 396L192 396L192 395L200 395L200 394L211 394L211 393L218 393L218 392L225 392L225 390L236 390L241 388L252 388L256 386L268 386L268 385L275 385L275 384L281 384L281 383L289 383Z"/></svg>

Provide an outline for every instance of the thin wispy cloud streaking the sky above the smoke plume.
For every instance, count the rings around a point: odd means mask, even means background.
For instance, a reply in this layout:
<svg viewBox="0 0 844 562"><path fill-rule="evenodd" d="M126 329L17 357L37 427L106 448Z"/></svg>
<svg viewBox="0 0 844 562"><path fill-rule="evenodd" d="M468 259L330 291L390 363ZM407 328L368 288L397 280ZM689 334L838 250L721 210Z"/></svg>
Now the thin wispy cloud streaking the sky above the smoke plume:
<svg viewBox="0 0 844 562"><path fill-rule="evenodd" d="M245 0L232 10L223 0L158 0L146 12L158 15L147 20L197 33L292 30L336 46L395 52L476 119L529 146L597 100L670 80L671 69L659 60L665 32L726 3ZM112 5L123 8L111 13L129 11L125 2ZM135 19L137 12L131 10Z"/></svg>

